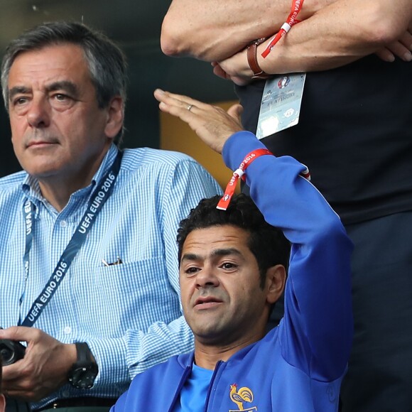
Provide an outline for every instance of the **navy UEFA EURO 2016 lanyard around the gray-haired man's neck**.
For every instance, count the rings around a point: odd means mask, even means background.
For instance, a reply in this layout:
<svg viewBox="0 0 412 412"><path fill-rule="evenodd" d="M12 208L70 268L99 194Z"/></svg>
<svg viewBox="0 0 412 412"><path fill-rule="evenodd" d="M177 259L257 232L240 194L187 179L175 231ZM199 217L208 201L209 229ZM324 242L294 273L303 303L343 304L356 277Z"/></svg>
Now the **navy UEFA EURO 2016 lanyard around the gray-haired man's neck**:
<svg viewBox="0 0 412 412"><path fill-rule="evenodd" d="M112 164L112 168L102 177L102 179L97 183L97 188L94 189L92 196L90 197L89 203L87 205L87 210L85 215L83 215L80 220L80 224L77 226L75 233L70 239L69 244L67 244L62 256L58 261L55 270L50 276L48 282L46 283L43 291L41 291L38 298L34 301L31 309L28 311L28 315L21 322L21 326L33 326L34 322L43 312L45 306L50 302L55 291L57 291L58 286L62 283L65 274L67 273L70 264L77 252L82 247L85 242L87 234L89 233L92 225L96 221L96 217L109 196L112 194L114 182L116 181L117 175L119 174L121 157L123 152L119 151L117 153L116 159ZM24 252L24 269L26 271L26 278L28 276L28 269L30 266L29 253L31 246L33 244L33 222L34 222L34 205L33 202L28 200L23 205L23 212L26 219L26 250Z"/></svg>

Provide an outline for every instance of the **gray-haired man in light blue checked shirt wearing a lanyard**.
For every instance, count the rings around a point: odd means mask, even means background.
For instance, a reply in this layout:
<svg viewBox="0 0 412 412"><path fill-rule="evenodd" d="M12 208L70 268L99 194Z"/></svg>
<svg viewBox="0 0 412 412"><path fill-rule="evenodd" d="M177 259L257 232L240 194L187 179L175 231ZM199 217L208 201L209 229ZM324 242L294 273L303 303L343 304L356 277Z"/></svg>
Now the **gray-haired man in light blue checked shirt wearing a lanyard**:
<svg viewBox="0 0 412 412"><path fill-rule="evenodd" d="M26 342L3 369L7 403L107 411L135 374L193 347L175 232L220 188L181 153L114 144L126 60L102 33L23 33L1 85L23 168L0 179L0 339Z"/></svg>

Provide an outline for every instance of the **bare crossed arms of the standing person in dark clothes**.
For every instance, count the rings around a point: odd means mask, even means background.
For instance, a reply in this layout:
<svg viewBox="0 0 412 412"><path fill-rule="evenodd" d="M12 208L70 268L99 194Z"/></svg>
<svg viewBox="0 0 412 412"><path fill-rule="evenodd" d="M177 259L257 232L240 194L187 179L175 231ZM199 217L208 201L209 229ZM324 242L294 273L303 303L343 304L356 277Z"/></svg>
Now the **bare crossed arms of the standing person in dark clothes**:
<svg viewBox="0 0 412 412"><path fill-rule="evenodd" d="M218 62L215 74L249 81L246 45L276 33L291 9L291 0L273 3L173 0L163 21L163 52ZM266 59L261 52L269 40L259 46L264 71L328 70L372 53L412 59L412 0L305 0L298 18Z"/></svg>

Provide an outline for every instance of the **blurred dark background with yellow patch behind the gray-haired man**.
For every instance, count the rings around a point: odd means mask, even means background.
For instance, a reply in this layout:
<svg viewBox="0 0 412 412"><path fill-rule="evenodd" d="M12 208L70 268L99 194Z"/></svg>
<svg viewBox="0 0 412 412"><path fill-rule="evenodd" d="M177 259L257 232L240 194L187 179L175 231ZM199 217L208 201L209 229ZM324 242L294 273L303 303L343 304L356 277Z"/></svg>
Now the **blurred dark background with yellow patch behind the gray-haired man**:
<svg viewBox="0 0 412 412"><path fill-rule="evenodd" d="M163 55L159 39L169 4L170 0L0 0L0 58L10 40L45 21L83 21L103 31L120 45L129 61L126 134L122 146L185 151L210 170L215 158L210 159L209 152L205 158L204 146L198 145L198 139L191 136L182 122L159 113L153 90L161 87L212 103L232 102L236 95L231 82L212 74L209 63ZM1 104L0 176L20 170L10 136L9 121ZM219 161L219 156L216 158ZM219 173L210 171L214 175ZM226 177L216 177L225 180L222 185L226 184Z"/></svg>

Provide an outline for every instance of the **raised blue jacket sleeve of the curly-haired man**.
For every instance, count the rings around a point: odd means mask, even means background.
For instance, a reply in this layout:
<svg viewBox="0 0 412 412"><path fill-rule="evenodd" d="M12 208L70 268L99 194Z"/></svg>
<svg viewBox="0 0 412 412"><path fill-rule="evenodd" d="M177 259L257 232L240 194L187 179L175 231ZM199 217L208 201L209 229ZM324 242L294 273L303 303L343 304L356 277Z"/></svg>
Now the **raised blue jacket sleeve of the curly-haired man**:
<svg viewBox="0 0 412 412"><path fill-rule="evenodd" d="M254 134L238 132L224 145L224 161L236 170L257 148L264 145ZM345 372L352 345L352 242L325 198L300 175L304 169L288 156L261 156L246 169L246 183L266 221L292 243L279 326L283 357L329 381Z"/></svg>

